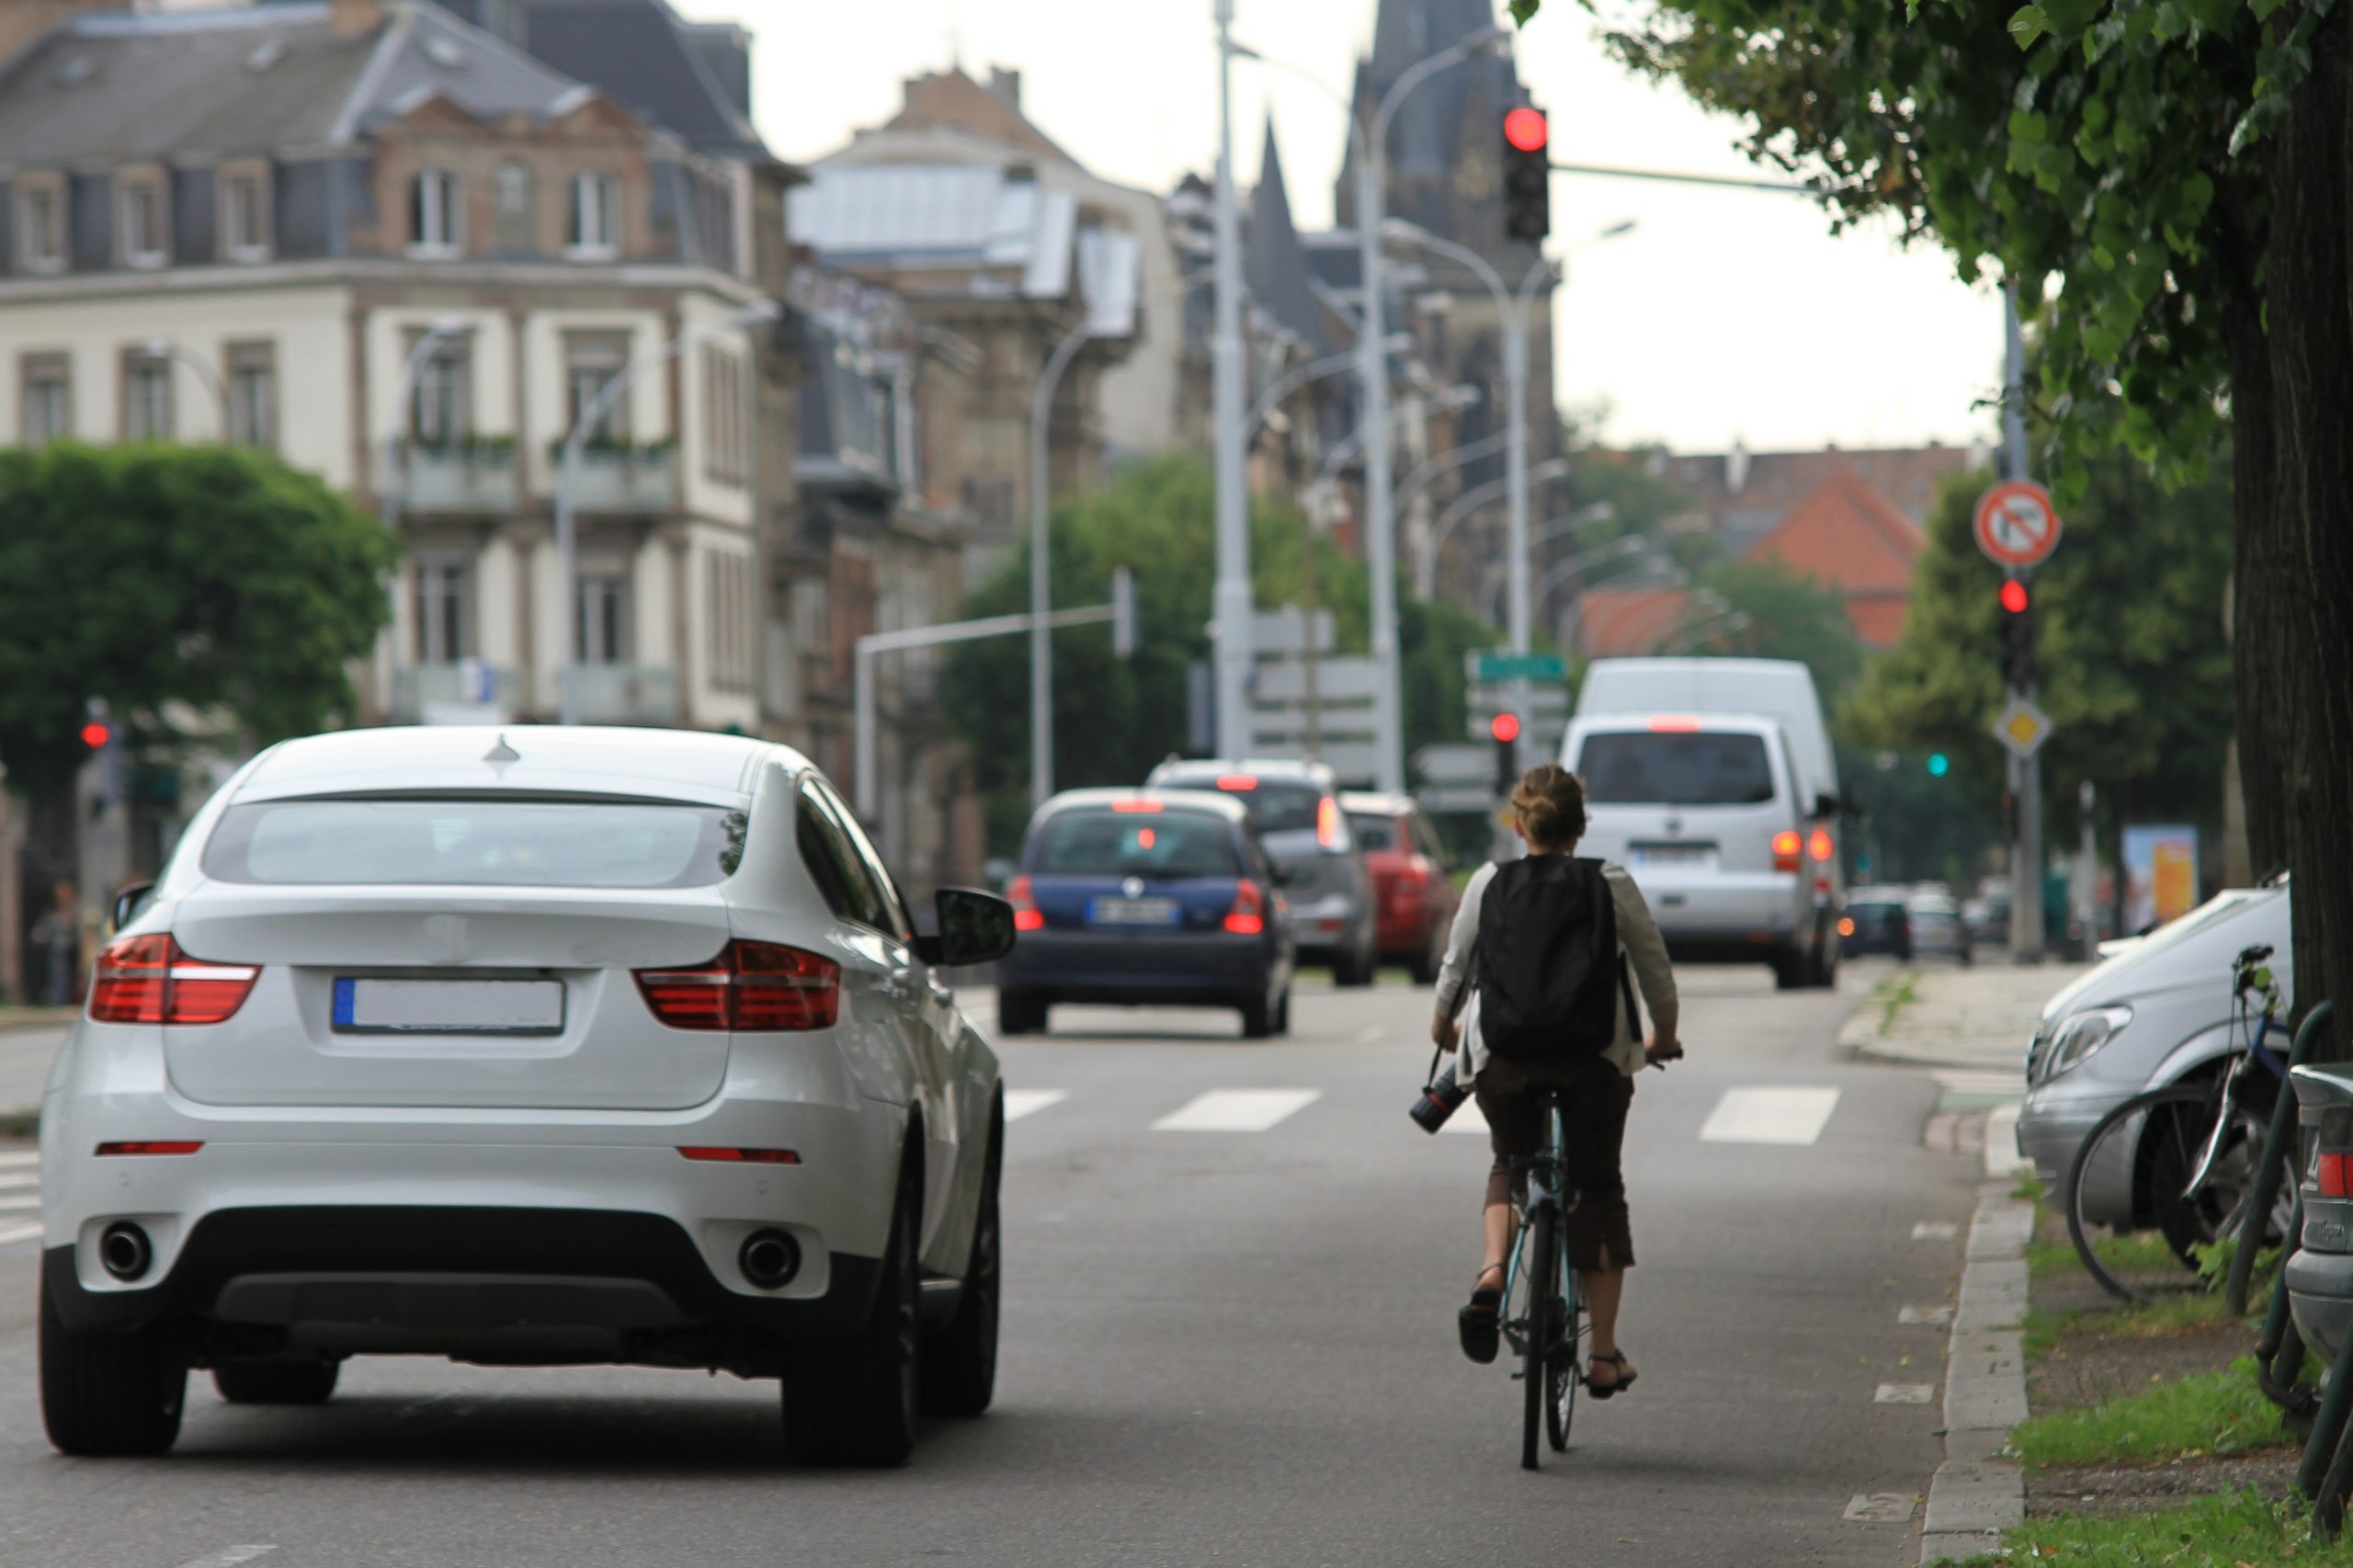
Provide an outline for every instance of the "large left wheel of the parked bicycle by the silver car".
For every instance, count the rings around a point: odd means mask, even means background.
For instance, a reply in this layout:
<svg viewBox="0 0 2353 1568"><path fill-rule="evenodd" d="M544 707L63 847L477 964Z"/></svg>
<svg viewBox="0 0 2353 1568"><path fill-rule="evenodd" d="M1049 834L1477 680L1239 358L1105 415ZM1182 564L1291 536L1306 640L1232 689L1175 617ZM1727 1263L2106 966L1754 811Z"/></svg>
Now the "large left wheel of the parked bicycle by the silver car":
<svg viewBox="0 0 2353 1568"><path fill-rule="evenodd" d="M2240 1107L2224 1135L2221 1156L2198 1196L2188 1196L2191 1172L2217 1116L2214 1085L2177 1083L2101 1116L2068 1163L2068 1238L2085 1271L2108 1295L2158 1302L2205 1288L2193 1248L2235 1236L2261 1158L2266 1128ZM2285 1170L2266 1238L2287 1234L2294 1172Z"/></svg>

